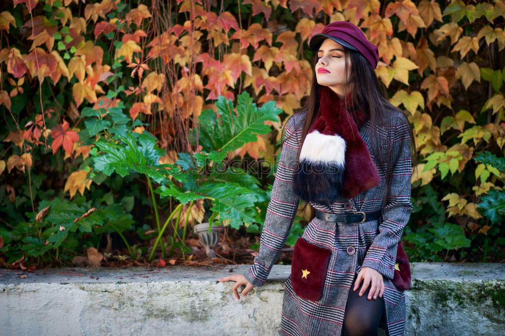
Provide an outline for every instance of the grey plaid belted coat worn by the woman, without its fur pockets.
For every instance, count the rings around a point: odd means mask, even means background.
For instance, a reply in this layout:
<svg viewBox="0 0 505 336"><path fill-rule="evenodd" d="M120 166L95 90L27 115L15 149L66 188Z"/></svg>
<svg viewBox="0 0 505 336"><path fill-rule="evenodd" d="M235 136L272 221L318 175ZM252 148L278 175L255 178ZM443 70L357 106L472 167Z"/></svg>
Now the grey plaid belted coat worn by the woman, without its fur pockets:
<svg viewBox="0 0 505 336"><path fill-rule="evenodd" d="M279 258L298 208L298 198L292 191L292 175L305 114L295 114L286 123L286 134L290 136L281 150L259 253L254 264L244 274L247 281L256 287L265 284L272 265ZM405 293L396 289L391 280L398 241L412 212L410 124L398 110L397 114L390 116L387 125L379 127L376 132L382 139L391 141L391 157L385 153L381 157L375 157L370 151L370 121L359 129L376 165L378 160L393 162L389 202L382 210L382 220L345 224L327 222L316 217L308 223L302 238L331 249L323 296L316 302L298 297L291 287L290 275L285 284L281 334L341 335L349 288L353 285L354 276L363 266L377 270L384 278L386 321L381 319L380 327L387 328L390 336L403 334L406 319ZM377 187L352 199L337 199L330 207L318 203L311 203L312 206L332 213L379 210L384 198L386 173L379 165L377 169L382 180ZM349 210L344 207L346 202L352 204ZM355 247L356 252L348 254L348 246Z"/></svg>

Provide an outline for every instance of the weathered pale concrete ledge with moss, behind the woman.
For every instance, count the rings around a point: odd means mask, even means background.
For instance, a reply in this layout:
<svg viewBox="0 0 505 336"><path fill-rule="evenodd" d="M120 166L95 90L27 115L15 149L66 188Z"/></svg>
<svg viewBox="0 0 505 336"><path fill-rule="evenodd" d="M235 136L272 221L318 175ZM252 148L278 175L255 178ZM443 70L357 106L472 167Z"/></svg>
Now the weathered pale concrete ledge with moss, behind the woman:
<svg viewBox="0 0 505 336"><path fill-rule="evenodd" d="M237 300L217 279L248 267L0 269L0 335L278 335L291 266ZM406 335L503 334L505 265L416 262L412 277Z"/></svg>

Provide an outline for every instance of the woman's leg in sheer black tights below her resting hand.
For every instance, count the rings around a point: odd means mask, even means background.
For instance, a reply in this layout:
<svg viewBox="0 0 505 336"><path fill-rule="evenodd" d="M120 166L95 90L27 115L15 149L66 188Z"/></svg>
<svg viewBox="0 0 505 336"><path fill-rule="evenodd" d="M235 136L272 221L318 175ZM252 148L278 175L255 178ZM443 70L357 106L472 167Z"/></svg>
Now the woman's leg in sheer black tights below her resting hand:
<svg viewBox="0 0 505 336"><path fill-rule="evenodd" d="M368 300L371 284L368 286L365 293L363 293L363 296L359 296L363 286L363 280L356 291L352 290L357 276L358 274L355 274L347 298L347 307L344 313L343 335L378 335L379 321L384 312L384 298L377 296L375 300L373 297L371 300Z"/></svg>

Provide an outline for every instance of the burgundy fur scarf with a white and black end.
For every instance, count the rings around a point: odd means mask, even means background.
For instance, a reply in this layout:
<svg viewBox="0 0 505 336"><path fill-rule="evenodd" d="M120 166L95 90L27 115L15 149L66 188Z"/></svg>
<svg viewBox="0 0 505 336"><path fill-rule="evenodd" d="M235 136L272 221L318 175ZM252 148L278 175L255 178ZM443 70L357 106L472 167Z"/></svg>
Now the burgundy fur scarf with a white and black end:
<svg viewBox="0 0 505 336"><path fill-rule="evenodd" d="M327 86L319 92L320 109L296 161L293 191L306 202L329 205L340 195L353 198L378 186L380 177L358 128L366 121L355 109L356 120L343 99Z"/></svg>

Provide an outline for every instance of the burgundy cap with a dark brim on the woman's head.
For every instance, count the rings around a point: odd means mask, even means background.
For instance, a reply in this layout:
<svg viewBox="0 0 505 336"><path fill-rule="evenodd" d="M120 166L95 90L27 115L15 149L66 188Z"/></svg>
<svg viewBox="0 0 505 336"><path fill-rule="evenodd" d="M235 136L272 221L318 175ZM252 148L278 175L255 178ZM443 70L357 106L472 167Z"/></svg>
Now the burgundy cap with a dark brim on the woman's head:
<svg viewBox="0 0 505 336"><path fill-rule="evenodd" d="M312 50L317 51L326 38L331 38L347 48L359 51L374 69L377 68L379 49L367 39L365 33L355 24L347 21L332 22L326 25L321 33L311 37L309 46Z"/></svg>

